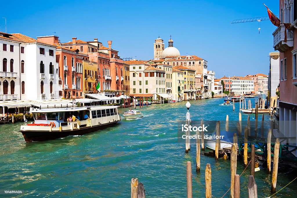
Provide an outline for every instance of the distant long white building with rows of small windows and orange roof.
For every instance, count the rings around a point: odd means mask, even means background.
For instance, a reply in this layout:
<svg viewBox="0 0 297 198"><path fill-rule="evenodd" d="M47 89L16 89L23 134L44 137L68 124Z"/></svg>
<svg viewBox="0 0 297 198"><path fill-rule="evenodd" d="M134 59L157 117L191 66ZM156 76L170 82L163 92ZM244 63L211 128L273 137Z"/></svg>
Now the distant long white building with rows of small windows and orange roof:
<svg viewBox="0 0 297 198"><path fill-rule="evenodd" d="M254 92L254 80L248 77L233 76L231 83L232 95L252 94Z"/></svg>

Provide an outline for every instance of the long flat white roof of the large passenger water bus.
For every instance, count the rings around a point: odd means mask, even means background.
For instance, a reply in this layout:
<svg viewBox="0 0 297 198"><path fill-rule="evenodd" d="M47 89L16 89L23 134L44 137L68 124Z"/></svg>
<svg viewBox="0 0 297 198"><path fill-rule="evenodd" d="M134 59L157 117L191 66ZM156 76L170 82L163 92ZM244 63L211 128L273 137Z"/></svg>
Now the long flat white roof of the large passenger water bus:
<svg viewBox="0 0 297 198"><path fill-rule="evenodd" d="M83 111L83 110L101 110L101 109L113 109L118 106L94 106L94 107L68 107L68 108L49 108L49 109L34 109L31 113L55 113L55 112L71 112L71 111Z"/></svg>

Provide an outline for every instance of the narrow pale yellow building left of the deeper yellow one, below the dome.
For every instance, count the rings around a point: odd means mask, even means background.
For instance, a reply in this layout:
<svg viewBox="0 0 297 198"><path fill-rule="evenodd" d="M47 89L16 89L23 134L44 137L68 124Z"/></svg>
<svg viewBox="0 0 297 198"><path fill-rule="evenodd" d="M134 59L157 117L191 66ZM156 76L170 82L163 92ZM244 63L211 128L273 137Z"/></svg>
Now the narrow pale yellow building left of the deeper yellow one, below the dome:
<svg viewBox="0 0 297 198"><path fill-rule="evenodd" d="M172 68L172 99L184 100L184 72Z"/></svg>

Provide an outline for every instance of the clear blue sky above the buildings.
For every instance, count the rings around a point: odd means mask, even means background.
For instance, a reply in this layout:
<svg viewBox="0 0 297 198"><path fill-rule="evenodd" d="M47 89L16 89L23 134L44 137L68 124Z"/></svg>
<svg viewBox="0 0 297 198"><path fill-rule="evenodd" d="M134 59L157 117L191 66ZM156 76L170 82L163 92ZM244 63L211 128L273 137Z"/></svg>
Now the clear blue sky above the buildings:
<svg viewBox="0 0 297 198"><path fill-rule="evenodd" d="M50 2L50 3L49 3ZM278 0L263 1L4 1L0 25L8 33L30 37L53 35L61 42L72 37L84 41L98 38L121 58L153 58L154 39L160 35L168 47L170 35L181 55L208 61L216 77L244 76L269 70L274 51L270 21L230 24L234 19L267 16L265 3L274 14ZM18 11L13 12L18 6ZM9 9L11 7L11 9Z"/></svg>

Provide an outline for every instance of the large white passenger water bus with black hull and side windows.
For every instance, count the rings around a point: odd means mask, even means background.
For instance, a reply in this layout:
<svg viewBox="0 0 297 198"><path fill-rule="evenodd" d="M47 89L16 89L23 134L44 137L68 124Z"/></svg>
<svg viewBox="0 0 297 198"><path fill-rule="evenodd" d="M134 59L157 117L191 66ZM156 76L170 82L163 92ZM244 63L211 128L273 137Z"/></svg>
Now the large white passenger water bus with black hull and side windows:
<svg viewBox="0 0 297 198"><path fill-rule="evenodd" d="M120 121L117 106L35 109L31 113L34 122L20 126L26 142L83 135L108 128ZM70 121L73 115L75 121Z"/></svg>

